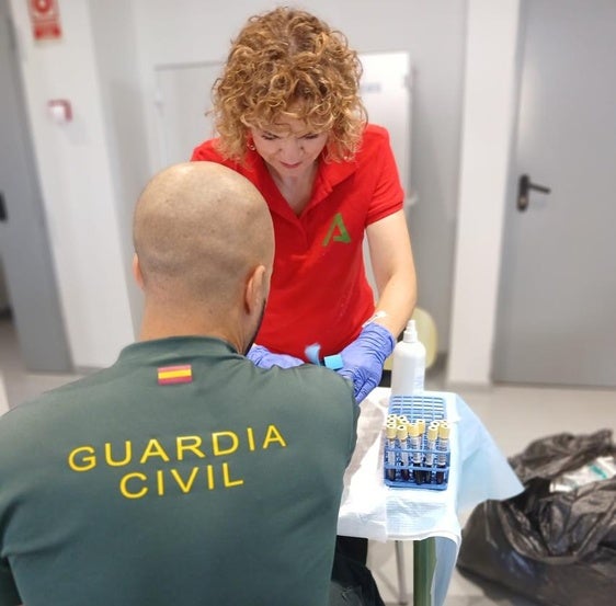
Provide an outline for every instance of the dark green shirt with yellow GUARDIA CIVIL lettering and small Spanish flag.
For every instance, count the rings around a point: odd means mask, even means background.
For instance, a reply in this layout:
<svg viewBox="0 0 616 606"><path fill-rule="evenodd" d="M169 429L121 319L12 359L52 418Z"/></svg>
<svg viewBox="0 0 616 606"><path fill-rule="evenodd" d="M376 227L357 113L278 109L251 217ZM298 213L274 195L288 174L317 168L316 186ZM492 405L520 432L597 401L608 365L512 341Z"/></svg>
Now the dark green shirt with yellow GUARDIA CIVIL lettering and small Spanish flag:
<svg viewBox="0 0 616 606"><path fill-rule="evenodd" d="M322 367L126 347L0 418L0 606L324 606L357 414Z"/></svg>

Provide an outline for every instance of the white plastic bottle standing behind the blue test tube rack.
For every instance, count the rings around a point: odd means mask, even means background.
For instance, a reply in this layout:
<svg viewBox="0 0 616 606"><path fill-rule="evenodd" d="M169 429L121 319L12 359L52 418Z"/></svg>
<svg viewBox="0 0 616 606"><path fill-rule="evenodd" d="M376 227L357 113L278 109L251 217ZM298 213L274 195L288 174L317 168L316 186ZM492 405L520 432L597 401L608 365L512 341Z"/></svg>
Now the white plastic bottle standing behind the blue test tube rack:
<svg viewBox="0 0 616 606"><path fill-rule="evenodd" d="M409 320L402 341L393 347L391 396L413 396L423 392L425 346L418 339L414 320Z"/></svg>

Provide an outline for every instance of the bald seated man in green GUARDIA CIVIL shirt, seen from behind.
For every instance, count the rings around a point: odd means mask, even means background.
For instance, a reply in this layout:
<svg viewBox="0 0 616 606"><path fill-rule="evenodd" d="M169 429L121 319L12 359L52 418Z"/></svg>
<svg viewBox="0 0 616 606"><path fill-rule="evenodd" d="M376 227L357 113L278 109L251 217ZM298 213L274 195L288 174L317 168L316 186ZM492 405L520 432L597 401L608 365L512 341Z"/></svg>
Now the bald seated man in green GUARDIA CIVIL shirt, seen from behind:
<svg viewBox="0 0 616 606"><path fill-rule="evenodd" d="M353 387L244 357L267 299L265 202L220 164L135 210L140 340L0 419L0 605L324 606Z"/></svg>

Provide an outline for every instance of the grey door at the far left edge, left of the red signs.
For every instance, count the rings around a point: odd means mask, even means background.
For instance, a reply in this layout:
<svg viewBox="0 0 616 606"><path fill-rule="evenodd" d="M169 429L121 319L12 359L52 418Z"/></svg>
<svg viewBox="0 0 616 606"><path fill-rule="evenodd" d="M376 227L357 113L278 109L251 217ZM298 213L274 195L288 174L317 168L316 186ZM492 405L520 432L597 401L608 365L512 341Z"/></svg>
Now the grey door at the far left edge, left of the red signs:
<svg viewBox="0 0 616 606"><path fill-rule="evenodd" d="M15 36L0 0L0 263L30 370L71 368L23 110Z"/></svg>

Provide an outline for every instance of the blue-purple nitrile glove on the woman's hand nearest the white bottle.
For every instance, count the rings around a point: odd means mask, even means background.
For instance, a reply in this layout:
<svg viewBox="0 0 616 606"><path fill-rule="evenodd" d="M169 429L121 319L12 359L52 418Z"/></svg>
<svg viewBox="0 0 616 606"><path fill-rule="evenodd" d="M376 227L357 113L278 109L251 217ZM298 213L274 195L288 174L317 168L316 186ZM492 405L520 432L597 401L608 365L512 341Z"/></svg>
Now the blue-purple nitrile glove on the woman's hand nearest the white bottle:
<svg viewBox="0 0 616 606"><path fill-rule="evenodd" d="M344 366L338 373L353 381L357 403L379 384L383 365L395 345L393 335L385 327L372 322L340 352Z"/></svg>

